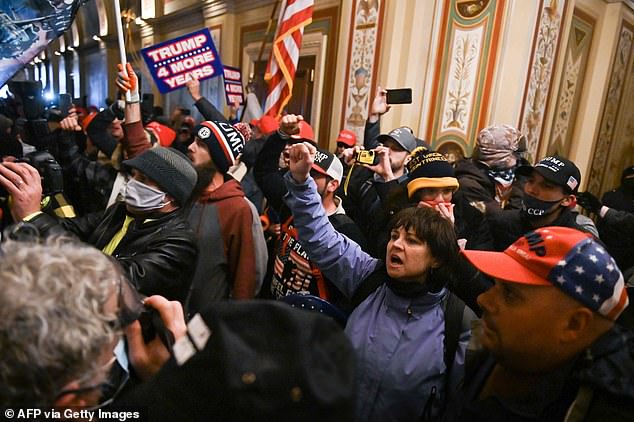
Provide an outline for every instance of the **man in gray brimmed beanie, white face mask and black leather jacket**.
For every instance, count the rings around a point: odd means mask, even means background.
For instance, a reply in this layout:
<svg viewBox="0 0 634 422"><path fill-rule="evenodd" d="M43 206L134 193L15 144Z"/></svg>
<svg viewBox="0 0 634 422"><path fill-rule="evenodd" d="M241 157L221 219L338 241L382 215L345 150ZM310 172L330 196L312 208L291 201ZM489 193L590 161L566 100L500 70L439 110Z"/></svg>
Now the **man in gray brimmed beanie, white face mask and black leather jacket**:
<svg viewBox="0 0 634 422"><path fill-rule="evenodd" d="M13 198L16 221L30 223L42 236L73 233L114 256L141 293L184 302L197 247L181 205L191 196L196 170L187 157L168 148L153 148L123 164L133 175L125 200L83 217L42 213L40 175L28 164L0 165L0 185Z"/></svg>

